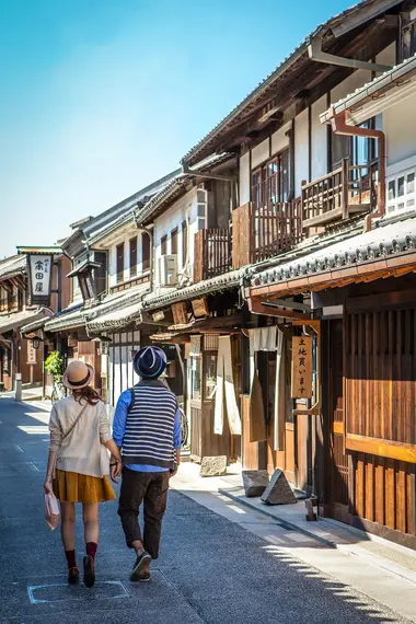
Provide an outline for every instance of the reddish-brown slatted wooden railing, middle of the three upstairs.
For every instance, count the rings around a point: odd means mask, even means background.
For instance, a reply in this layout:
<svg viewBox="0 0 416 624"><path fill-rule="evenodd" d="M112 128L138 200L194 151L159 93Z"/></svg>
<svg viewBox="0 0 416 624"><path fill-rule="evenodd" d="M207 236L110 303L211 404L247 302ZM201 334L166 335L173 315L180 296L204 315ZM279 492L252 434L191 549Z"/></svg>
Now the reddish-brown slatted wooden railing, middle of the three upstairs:
<svg viewBox="0 0 416 624"><path fill-rule="evenodd" d="M232 213L232 267L240 268L273 257L302 240L301 200L253 201Z"/></svg>

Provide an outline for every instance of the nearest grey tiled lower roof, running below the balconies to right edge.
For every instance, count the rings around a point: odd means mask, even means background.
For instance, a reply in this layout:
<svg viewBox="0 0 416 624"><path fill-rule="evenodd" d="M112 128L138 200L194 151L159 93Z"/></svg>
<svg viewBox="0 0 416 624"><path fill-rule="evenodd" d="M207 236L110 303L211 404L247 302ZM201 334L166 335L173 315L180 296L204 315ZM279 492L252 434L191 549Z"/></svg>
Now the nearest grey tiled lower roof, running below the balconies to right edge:
<svg viewBox="0 0 416 624"><path fill-rule="evenodd" d="M284 282L296 277L308 276L331 268L353 266L384 258L391 254L407 253L416 249L416 217L403 215L403 220L395 222L379 222L379 227L370 232L351 235L335 244L293 259L279 262L266 270L254 273L252 286L266 286Z"/></svg>

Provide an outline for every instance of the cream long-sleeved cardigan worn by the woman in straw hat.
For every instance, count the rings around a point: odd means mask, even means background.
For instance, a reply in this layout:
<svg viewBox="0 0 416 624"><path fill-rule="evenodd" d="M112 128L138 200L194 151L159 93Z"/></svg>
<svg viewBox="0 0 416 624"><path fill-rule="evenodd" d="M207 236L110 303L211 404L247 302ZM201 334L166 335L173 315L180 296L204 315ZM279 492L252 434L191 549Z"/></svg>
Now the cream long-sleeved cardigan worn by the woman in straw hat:
<svg viewBox="0 0 416 624"><path fill-rule="evenodd" d="M73 396L55 403L49 420L49 450L58 453L58 470L102 477L109 472L109 458L104 444L112 439L104 403L100 401L96 405L86 405L73 430L62 440L83 405Z"/></svg>

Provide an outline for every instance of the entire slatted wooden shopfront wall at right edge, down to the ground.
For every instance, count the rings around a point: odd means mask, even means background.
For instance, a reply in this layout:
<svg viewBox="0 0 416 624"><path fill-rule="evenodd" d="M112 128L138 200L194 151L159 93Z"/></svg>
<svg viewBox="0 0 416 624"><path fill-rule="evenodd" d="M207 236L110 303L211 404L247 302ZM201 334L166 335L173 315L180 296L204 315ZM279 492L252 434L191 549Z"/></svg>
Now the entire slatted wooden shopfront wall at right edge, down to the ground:
<svg viewBox="0 0 416 624"><path fill-rule="evenodd" d="M345 316L345 425L346 447L353 451L353 512L413 535L415 327L414 308L363 310Z"/></svg>

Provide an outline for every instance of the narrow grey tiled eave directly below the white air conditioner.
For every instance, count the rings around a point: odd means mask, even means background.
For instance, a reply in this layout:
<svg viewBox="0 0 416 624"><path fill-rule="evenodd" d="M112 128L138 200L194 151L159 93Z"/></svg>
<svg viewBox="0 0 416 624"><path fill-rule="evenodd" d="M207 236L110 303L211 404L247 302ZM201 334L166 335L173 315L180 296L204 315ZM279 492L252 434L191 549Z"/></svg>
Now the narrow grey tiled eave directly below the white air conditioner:
<svg viewBox="0 0 416 624"><path fill-rule="evenodd" d="M142 308L143 310L155 310L158 308L163 308L170 305L175 301L184 301L187 299L196 299L203 294L209 294L210 292L220 292L222 290L231 290L241 285L242 278L244 277L245 269L230 270L211 279L206 279L205 281L198 281L192 286L186 286L185 288L178 288L175 290L170 290L163 294L150 294L145 298Z"/></svg>

